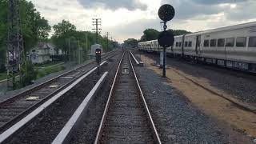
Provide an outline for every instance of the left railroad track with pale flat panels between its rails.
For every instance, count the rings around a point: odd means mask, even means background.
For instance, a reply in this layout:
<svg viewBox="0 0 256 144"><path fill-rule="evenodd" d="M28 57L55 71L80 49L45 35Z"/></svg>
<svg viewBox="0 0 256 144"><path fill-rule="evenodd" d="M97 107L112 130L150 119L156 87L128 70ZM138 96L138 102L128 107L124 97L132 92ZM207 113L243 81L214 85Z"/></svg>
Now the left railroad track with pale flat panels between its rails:
<svg viewBox="0 0 256 144"><path fill-rule="evenodd" d="M114 54L116 53L105 54L102 59L109 59ZM65 89L70 83L80 78L94 66L96 66L96 62L92 60L83 66L79 66L38 86L34 86L30 90L14 95L14 97L4 102L0 102L0 134L10 126L13 126L18 120L30 114L32 110L42 105L43 102L53 97L54 94L58 94L59 91Z"/></svg>

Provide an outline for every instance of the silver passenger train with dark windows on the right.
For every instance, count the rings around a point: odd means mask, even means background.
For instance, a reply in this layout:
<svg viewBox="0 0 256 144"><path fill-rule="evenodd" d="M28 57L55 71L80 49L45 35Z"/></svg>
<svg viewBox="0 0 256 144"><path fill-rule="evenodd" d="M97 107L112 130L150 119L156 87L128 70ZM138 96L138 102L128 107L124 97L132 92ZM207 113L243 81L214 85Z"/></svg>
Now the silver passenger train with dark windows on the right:
<svg viewBox="0 0 256 144"><path fill-rule="evenodd" d="M256 72L256 22L175 36L166 53ZM158 40L138 43L139 50L162 51Z"/></svg>

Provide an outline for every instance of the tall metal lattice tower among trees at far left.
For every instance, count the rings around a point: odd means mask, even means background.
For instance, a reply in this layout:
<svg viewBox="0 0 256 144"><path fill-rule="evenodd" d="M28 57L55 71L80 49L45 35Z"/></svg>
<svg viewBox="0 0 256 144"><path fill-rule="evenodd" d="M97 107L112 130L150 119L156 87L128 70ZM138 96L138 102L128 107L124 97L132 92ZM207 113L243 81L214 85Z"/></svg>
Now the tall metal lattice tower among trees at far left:
<svg viewBox="0 0 256 144"><path fill-rule="evenodd" d="M26 59L19 13L19 0L9 0L8 10L9 27L6 50L7 87L9 90L14 90L17 83L15 72L18 72L19 80L22 82L22 69Z"/></svg>

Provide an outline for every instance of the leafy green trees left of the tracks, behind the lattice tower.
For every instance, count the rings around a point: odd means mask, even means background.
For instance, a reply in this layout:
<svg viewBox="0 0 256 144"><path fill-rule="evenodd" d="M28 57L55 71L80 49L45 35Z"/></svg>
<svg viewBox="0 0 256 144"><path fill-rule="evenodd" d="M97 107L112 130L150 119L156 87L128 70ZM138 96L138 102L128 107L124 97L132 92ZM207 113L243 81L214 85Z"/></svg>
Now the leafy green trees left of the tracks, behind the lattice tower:
<svg viewBox="0 0 256 144"><path fill-rule="evenodd" d="M34 4L27 0L19 0L19 9L25 54L34 48L38 42L52 42L57 49L61 49L66 54L66 58L68 58L70 48L73 60L77 60L78 53L82 53L82 60L85 60L90 46L95 42L94 33L77 30L74 24L66 20L50 26L48 20L36 10ZM8 0L0 0L0 72L6 71L8 12ZM54 30L54 34L50 38L51 30ZM117 45L117 42L103 38L100 34L98 35L98 42L102 44L102 48L106 52ZM80 47L79 51L78 46ZM24 77L22 85L26 86L35 78L36 71L29 60L26 60L24 66L23 70L26 71L22 71L22 77Z"/></svg>

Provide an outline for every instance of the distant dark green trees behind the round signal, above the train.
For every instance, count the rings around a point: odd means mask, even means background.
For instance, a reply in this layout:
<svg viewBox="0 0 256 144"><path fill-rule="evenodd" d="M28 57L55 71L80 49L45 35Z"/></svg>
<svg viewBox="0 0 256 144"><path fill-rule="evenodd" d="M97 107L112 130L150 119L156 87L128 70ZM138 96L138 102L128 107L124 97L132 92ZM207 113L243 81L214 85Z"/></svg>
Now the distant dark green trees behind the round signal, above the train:
<svg viewBox="0 0 256 144"><path fill-rule="evenodd" d="M190 31L186 31L186 30L170 30L170 31L174 34L174 36L191 33ZM143 35L139 40L134 38L128 38L126 41L124 41L124 46L137 47L138 42L146 42L146 41L158 39L159 34L160 32L158 30L146 29L143 31Z"/></svg>

